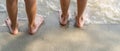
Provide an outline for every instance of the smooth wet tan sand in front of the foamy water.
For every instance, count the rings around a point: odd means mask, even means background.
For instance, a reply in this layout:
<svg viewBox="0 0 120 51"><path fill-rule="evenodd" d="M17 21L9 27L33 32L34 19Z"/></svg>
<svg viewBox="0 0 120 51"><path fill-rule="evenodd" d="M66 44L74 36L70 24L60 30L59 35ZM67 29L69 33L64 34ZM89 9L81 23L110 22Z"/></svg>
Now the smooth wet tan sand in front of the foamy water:
<svg viewBox="0 0 120 51"><path fill-rule="evenodd" d="M27 33L27 22L21 22L18 35L0 27L0 51L119 51L120 24L87 24L75 28L74 21L61 27L57 14L45 19L35 35Z"/></svg>

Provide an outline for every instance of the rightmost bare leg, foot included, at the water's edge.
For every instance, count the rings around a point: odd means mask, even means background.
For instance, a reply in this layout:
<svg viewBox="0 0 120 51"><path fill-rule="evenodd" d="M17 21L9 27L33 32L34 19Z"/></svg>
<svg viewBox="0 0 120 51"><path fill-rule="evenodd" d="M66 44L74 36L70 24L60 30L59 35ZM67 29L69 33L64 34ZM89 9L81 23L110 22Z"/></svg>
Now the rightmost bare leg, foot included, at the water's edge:
<svg viewBox="0 0 120 51"><path fill-rule="evenodd" d="M86 7L87 0L77 0L77 16L76 16L76 26L83 27L84 18L83 13Z"/></svg>

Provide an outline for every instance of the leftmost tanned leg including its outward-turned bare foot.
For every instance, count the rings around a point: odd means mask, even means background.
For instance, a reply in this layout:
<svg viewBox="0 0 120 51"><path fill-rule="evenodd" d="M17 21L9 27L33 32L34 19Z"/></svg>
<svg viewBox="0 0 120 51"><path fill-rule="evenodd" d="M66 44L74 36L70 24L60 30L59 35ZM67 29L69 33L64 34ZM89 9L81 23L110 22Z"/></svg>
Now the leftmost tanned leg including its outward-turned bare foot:
<svg viewBox="0 0 120 51"><path fill-rule="evenodd" d="M18 0L6 0L6 7L7 12L9 15L9 18L6 20L6 23L10 25L11 33L17 34L18 33L18 27L17 27L17 8Z"/></svg>

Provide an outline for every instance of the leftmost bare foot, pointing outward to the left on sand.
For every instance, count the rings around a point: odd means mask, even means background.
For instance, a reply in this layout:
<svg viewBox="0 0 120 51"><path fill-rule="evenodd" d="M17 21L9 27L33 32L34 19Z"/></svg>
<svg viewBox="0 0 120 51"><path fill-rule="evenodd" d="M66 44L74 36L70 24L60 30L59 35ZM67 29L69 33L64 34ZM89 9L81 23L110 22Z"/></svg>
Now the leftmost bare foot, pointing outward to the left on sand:
<svg viewBox="0 0 120 51"><path fill-rule="evenodd" d="M8 26L11 34L16 35L18 33L18 25L12 26L9 18L5 20L5 23Z"/></svg>

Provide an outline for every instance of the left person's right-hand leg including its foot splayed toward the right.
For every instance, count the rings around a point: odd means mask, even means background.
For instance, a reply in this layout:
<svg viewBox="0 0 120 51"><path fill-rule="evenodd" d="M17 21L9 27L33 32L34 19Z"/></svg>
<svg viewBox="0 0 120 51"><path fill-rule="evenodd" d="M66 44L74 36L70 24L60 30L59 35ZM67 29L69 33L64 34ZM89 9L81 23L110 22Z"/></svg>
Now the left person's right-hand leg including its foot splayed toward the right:
<svg viewBox="0 0 120 51"><path fill-rule="evenodd" d="M25 4L29 22L29 33L33 34L38 28L37 26L39 26L42 23L43 18L39 17L40 19L38 18L39 20L36 20L36 0L25 0Z"/></svg>

